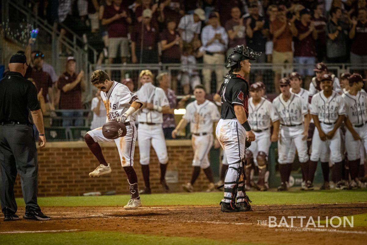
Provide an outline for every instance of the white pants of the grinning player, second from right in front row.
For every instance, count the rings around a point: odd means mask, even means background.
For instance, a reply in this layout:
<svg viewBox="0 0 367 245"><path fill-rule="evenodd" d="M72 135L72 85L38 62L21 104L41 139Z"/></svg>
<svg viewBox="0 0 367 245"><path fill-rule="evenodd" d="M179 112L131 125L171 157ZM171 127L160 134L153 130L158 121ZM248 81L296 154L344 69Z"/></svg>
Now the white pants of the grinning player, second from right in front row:
<svg viewBox="0 0 367 245"><path fill-rule="evenodd" d="M320 123L320 126L325 134L334 128L334 125L327 125L324 123ZM334 163L342 161L342 155L340 152L341 136L339 130L340 129L335 132L334 137L331 140L322 141L320 139L319 130L315 128L311 145L311 161L317 162L320 160L321 162L329 162L329 159Z"/></svg>

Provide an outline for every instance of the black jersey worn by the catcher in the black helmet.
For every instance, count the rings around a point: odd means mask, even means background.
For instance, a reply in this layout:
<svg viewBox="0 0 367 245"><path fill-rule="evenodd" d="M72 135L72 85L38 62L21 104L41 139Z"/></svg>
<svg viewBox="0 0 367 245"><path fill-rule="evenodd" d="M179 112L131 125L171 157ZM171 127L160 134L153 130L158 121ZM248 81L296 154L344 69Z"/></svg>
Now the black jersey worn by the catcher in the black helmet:
<svg viewBox="0 0 367 245"><path fill-rule="evenodd" d="M242 105L248 116L248 88L246 79L238 74L229 74L224 79L220 91L222 97L222 119L236 118L234 105Z"/></svg>

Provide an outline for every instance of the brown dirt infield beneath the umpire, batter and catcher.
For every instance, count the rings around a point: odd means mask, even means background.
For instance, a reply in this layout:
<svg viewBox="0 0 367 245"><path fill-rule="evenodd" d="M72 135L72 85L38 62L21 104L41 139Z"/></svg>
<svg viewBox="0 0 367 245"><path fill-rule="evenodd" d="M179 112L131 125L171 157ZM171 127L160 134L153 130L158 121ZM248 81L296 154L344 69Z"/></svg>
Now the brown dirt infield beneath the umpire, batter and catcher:
<svg viewBox="0 0 367 245"><path fill-rule="evenodd" d="M19 208L22 214L24 208ZM268 216L325 216L367 213L367 203L257 205L245 213L221 213L219 206L150 206L138 210L122 207L48 207L50 221L0 221L1 233L22 231L121 231L179 237L228 239L265 244L366 244L367 227L336 228L336 231L277 231L258 220ZM287 219L290 224L290 219ZM304 221L304 222L307 222ZM294 226L299 227L299 219ZM305 226L305 224L304 224ZM332 228L332 227L330 227ZM333 228L334 229L334 228ZM0 235L1 236L1 235Z"/></svg>

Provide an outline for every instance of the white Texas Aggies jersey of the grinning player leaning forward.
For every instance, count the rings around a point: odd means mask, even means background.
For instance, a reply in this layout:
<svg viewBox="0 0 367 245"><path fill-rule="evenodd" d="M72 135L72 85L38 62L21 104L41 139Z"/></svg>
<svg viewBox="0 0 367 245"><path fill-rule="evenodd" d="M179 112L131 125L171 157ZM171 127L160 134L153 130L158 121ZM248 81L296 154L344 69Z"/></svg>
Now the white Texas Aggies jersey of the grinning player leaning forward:
<svg viewBox="0 0 367 245"><path fill-rule="evenodd" d="M317 115L321 123L335 123L339 115L345 115L344 99L335 91L326 98L321 90L312 97L310 114Z"/></svg>

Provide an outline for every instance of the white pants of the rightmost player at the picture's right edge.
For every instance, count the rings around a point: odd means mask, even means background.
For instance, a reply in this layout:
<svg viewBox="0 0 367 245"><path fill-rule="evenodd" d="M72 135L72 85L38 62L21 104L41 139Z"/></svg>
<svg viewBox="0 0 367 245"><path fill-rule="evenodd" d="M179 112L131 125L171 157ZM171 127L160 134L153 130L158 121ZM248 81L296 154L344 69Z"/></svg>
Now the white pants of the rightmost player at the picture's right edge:
<svg viewBox="0 0 367 245"><path fill-rule="evenodd" d="M354 161L360 159L361 153L367 151L367 124L362 127L353 127L359 134L362 140L354 140L352 133L349 130L345 131L345 148L348 152L348 160ZM363 155L364 157L364 155ZM361 161L362 162L362 161Z"/></svg>

